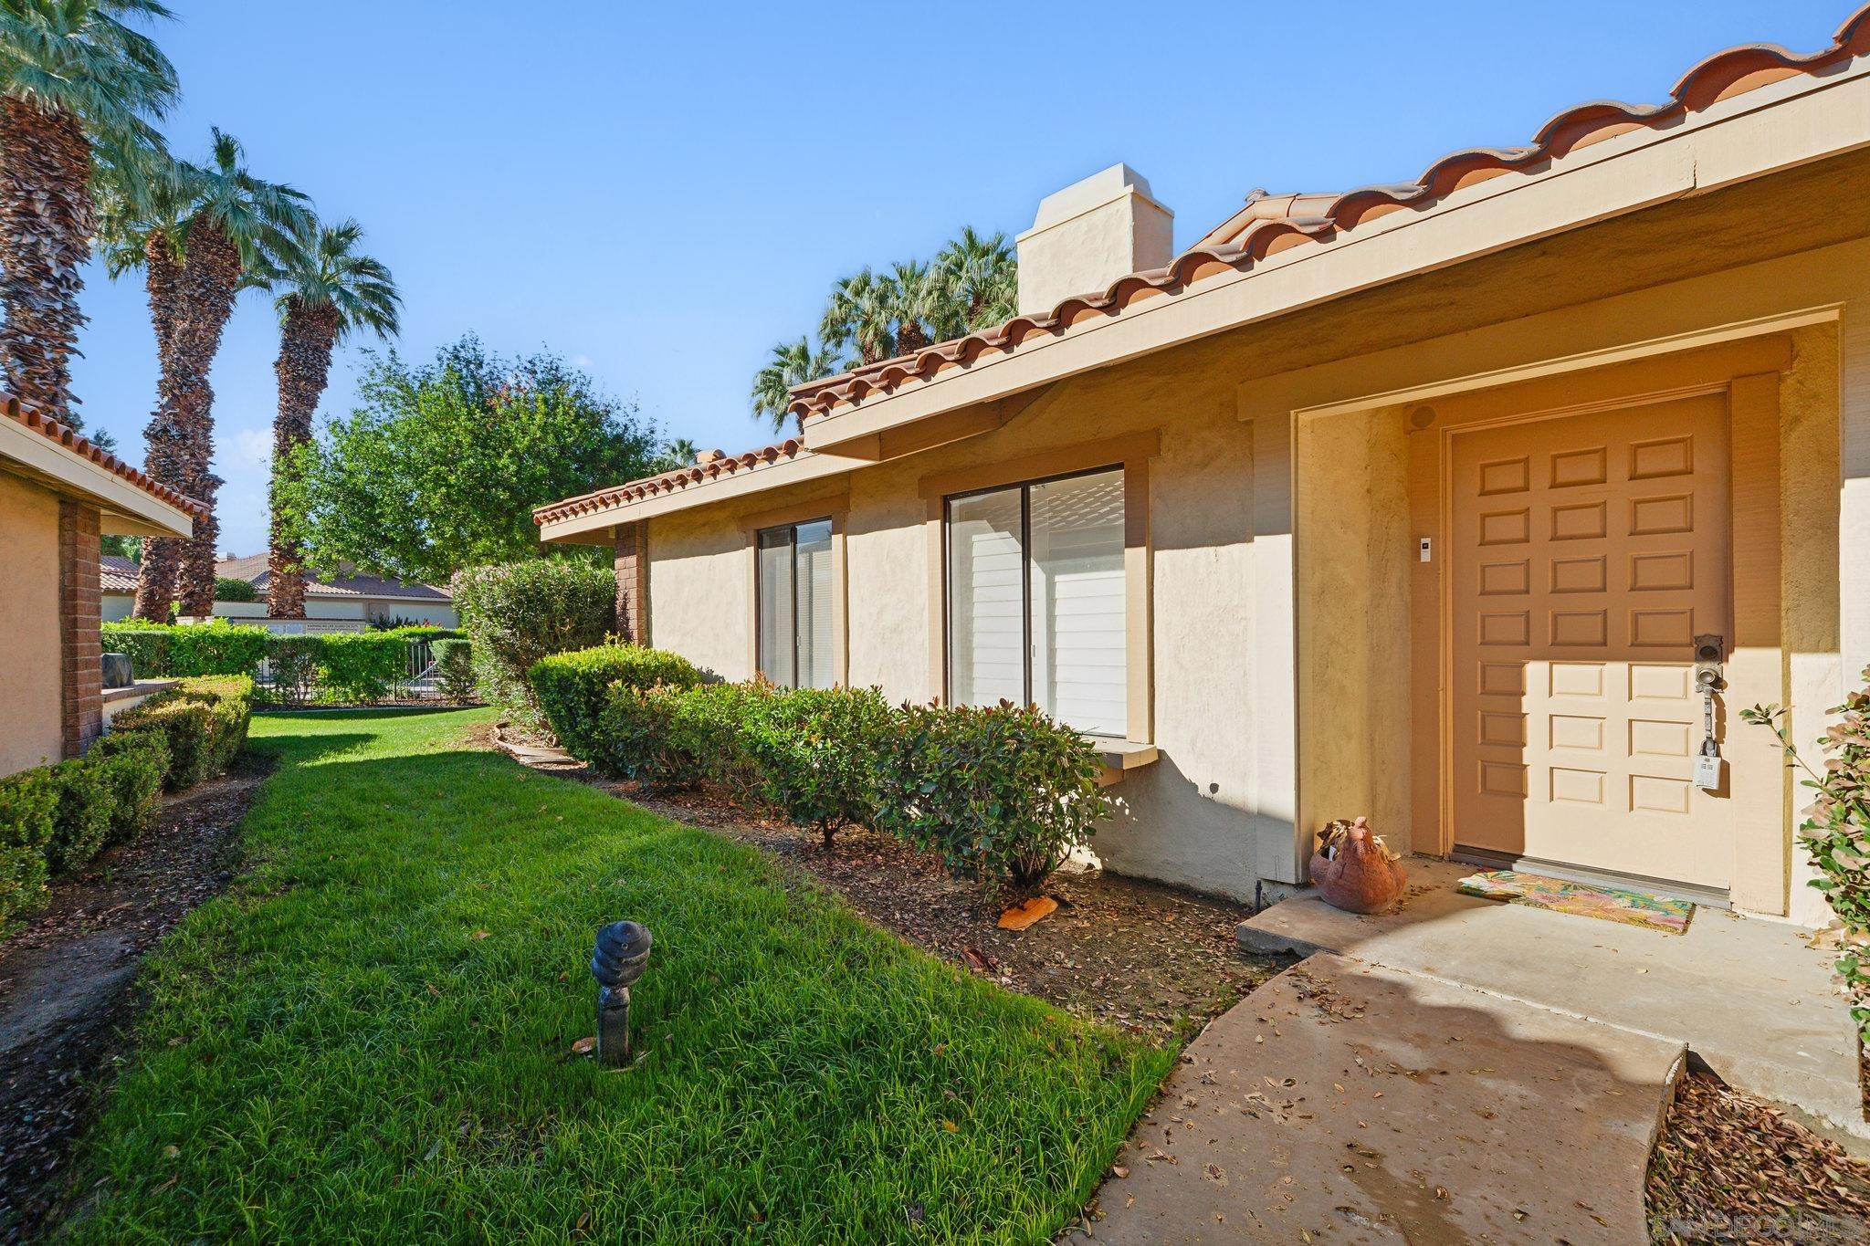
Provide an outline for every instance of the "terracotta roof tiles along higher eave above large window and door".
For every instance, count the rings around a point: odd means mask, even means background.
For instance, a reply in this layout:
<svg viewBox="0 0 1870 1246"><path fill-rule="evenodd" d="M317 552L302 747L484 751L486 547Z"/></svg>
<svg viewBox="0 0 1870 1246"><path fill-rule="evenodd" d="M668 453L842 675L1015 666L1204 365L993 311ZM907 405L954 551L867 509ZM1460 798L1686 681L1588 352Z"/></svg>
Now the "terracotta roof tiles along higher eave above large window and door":
<svg viewBox="0 0 1870 1246"><path fill-rule="evenodd" d="M1421 177L1399 185L1376 185L1337 196L1292 196L1292 215L1236 213L1169 267L1120 276L1101 293L1086 293L1058 303L1047 314L1015 316L1004 325L984 329L952 342L937 342L913 355L885 359L823 381L793 387L791 411L800 418L821 417L840 404L858 404L871 394L888 394L911 379L929 379L948 368L961 368L989 355L1006 355L1027 342L1060 336L1066 329L1096 318L1118 316L1143 299L1178 295L1189 286L1221 273L1244 273L1266 256L1328 243L1404 207L1429 205L1462 187L1507 174L1537 172L1548 161L1634 129L1661 129L1690 112L1797 75L1818 75L1846 60L1870 52L1870 4L1838 26L1831 45L1799 56L1769 43L1732 47L1689 69L1666 103L1623 105L1593 101L1567 108L1546 121L1522 148L1474 148L1455 151L1431 164ZM1232 226L1232 228L1230 228Z"/></svg>

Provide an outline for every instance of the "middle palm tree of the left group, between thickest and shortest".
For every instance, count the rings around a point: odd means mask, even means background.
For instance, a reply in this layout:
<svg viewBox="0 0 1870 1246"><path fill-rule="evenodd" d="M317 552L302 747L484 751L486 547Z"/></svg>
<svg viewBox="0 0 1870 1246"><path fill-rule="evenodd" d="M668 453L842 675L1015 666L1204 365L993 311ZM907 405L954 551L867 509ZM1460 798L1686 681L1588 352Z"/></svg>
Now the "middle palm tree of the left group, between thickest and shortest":
<svg viewBox="0 0 1870 1246"><path fill-rule="evenodd" d="M267 273L294 263L316 228L305 194L254 177L245 161L239 140L215 129L206 164L176 163L131 179L131 207L146 211L140 226L129 224L123 232L135 237L142 230L150 278L155 282L161 269L165 303L172 308L165 314L151 304L163 370L148 426L146 469L208 508L193 538L148 542L137 577L137 618L165 618L172 600L180 600L183 615L213 613L221 478L209 467L215 392L208 374L236 295L264 286ZM180 265L150 260L165 247Z"/></svg>

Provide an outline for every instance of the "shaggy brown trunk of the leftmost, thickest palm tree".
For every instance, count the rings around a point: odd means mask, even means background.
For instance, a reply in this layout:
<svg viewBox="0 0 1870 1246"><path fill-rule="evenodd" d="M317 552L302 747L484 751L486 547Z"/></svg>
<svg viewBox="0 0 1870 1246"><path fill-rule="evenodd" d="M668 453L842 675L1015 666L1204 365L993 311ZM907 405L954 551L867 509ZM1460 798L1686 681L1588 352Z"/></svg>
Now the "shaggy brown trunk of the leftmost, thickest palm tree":
<svg viewBox="0 0 1870 1246"><path fill-rule="evenodd" d="M71 366L90 256L92 148L71 112L0 99L0 370L13 396L54 420L71 418Z"/></svg>

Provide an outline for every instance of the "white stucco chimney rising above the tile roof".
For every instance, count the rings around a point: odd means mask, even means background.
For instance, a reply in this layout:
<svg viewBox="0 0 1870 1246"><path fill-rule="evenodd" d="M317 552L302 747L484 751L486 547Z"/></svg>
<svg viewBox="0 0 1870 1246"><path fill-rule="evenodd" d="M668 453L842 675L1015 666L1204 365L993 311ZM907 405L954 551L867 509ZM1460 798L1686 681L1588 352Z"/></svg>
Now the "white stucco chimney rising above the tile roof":
<svg viewBox="0 0 1870 1246"><path fill-rule="evenodd" d="M1062 299L1100 293L1118 276L1159 269L1174 256L1174 213L1150 196L1128 164L1073 181L1040 200L1021 234L1019 312L1049 312Z"/></svg>

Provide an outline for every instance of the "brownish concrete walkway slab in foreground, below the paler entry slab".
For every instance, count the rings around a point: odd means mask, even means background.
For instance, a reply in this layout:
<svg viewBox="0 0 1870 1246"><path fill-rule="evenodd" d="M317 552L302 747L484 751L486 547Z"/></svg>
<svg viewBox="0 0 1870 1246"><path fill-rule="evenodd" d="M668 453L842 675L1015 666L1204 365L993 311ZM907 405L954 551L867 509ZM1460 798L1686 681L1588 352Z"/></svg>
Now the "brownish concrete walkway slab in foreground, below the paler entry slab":
<svg viewBox="0 0 1870 1246"><path fill-rule="evenodd" d="M1085 1242L1642 1242L1664 1042L1315 955L1186 1052Z"/></svg>

